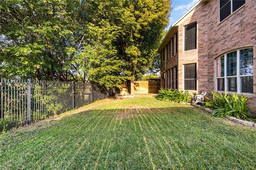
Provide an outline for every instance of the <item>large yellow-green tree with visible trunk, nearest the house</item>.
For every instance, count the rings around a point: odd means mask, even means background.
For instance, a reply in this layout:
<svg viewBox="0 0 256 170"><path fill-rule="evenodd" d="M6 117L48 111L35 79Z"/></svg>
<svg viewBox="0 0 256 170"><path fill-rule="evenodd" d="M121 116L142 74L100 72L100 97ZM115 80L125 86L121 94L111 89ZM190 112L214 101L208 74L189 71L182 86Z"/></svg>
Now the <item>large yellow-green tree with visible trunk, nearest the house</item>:
<svg viewBox="0 0 256 170"><path fill-rule="evenodd" d="M119 86L147 71L156 58L162 32L168 23L168 0L95 1L94 22L88 27L90 37L78 63L91 81ZM97 20L100 18L100 20ZM87 67L86 67L87 66Z"/></svg>

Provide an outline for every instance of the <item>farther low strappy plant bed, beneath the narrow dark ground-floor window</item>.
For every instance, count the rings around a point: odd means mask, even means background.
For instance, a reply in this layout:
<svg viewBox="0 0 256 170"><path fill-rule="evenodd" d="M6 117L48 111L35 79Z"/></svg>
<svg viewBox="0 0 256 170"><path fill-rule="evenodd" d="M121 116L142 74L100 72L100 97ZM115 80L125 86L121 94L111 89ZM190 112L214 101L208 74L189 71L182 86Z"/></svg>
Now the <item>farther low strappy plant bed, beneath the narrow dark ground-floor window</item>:
<svg viewBox="0 0 256 170"><path fill-rule="evenodd" d="M168 102L175 101L177 103L190 103L191 96L187 90L183 92L177 89L171 90L161 88L156 99Z"/></svg>

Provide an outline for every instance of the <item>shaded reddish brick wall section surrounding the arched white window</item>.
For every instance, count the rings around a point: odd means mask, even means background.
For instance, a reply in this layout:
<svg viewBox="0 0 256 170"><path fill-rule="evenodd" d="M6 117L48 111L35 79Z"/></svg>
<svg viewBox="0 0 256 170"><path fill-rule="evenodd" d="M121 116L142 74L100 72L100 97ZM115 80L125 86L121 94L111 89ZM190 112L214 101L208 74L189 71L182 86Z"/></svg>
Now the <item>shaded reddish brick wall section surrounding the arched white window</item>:
<svg viewBox="0 0 256 170"><path fill-rule="evenodd" d="M244 47L253 47L254 52L254 86L250 95L250 105L256 106L256 3L246 0L245 5L231 14L226 20L219 22L218 1L206 4L210 11L208 14L208 62L207 63L207 91L215 91L215 58ZM199 54L198 58L202 58Z"/></svg>

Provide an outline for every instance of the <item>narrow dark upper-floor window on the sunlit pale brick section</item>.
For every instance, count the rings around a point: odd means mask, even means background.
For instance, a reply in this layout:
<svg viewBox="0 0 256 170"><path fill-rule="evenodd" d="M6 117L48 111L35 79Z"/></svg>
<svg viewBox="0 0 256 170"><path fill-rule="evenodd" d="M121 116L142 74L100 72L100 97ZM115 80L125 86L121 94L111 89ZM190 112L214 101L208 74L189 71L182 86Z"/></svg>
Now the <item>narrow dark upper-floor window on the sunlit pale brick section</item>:
<svg viewBox="0 0 256 170"><path fill-rule="evenodd" d="M196 23L185 26L185 51L196 49Z"/></svg>

